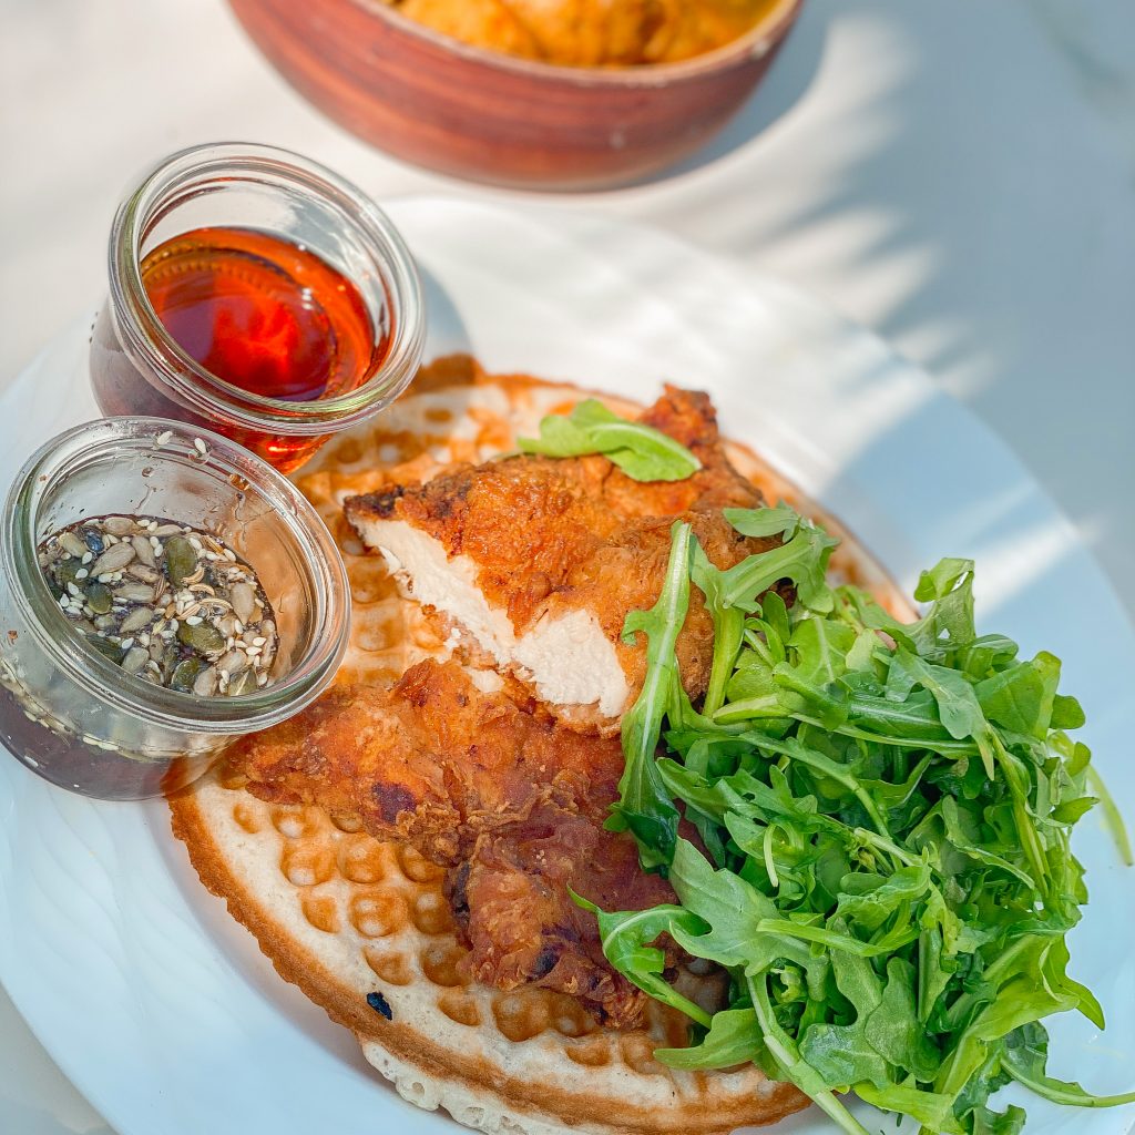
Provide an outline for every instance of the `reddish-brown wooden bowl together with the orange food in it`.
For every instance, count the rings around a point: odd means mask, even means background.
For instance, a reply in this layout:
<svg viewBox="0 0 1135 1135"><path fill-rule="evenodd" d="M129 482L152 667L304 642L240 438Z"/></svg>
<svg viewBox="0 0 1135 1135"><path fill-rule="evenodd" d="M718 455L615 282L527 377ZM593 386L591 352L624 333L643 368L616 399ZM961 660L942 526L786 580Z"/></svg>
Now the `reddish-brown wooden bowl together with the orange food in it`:
<svg viewBox="0 0 1135 1135"><path fill-rule="evenodd" d="M428 26L420 0L230 0L285 78L367 141L440 173L558 190L624 184L696 151L764 76L801 2L636 0L617 6L622 26L505 20L516 5L486 22L479 2L446 15L434 0ZM650 7L703 16L627 15Z"/></svg>

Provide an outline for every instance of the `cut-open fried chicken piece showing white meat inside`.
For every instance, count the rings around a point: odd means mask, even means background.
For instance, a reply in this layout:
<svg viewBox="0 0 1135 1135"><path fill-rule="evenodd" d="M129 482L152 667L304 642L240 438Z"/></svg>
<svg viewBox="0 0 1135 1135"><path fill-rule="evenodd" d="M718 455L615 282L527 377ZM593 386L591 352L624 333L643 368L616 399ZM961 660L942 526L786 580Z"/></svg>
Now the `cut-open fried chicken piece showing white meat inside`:
<svg viewBox="0 0 1135 1135"><path fill-rule="evenodd" d="M688 446L701 469L682 481L642 484L603 456L519 456L455 465L344 506L404 591L564 723L604 735L617 731L642 684L645 637L625 644L621 634L631 611L658 598L673 521L689 521L722 569L775 543L738 535L722 515L763 499L729 463L704 394L667 387L641 420ZM696 698L713 659L697 588L678 657Z"/></svg>

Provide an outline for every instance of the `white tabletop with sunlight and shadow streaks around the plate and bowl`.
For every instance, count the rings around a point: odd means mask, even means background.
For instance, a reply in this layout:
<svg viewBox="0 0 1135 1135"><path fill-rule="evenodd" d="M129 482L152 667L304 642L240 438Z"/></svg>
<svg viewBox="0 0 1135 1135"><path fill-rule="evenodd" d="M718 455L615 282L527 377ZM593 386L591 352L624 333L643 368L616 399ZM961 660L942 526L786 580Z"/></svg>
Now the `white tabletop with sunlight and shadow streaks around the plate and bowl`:
<svg viewBox="0 0 1135 1135"><path fill-rule="evenodd" d="M99 302L136 173L197 142L269 142L379 201L602 210L824 296L1001 434L1135 613L1130 0L807 0L707 152L651 184L554 197L367 149L270 70L220 0L2 0L0 20L0 386ZM0 1132L114 1135L2 991Z"/></svg>

